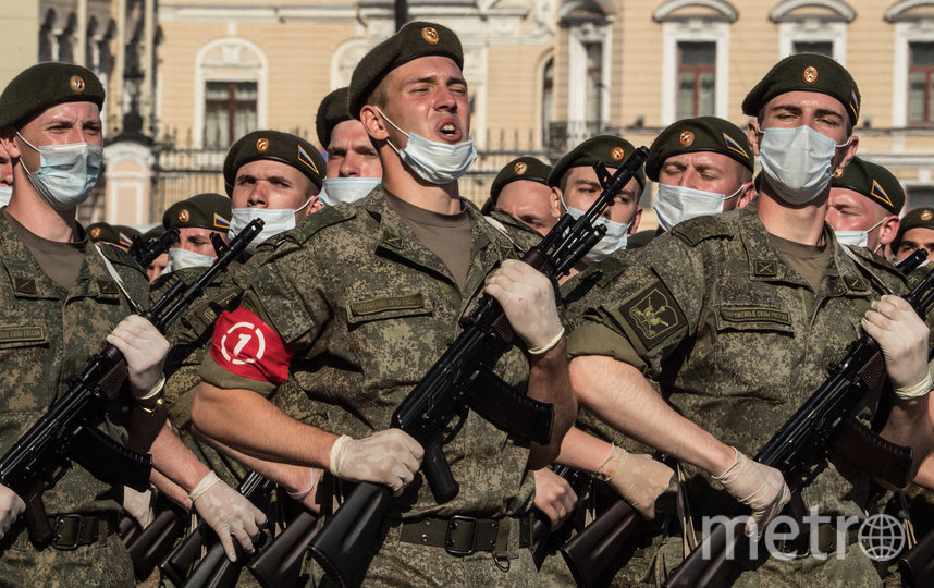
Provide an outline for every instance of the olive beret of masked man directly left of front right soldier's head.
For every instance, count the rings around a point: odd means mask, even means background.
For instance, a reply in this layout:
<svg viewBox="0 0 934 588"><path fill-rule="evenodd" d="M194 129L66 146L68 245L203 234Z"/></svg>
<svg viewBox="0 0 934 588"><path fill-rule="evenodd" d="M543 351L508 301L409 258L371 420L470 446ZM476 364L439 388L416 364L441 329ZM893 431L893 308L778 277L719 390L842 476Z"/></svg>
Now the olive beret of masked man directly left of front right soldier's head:
<svg viewBox="0 0 934 588"><path fill-rule="evenodd" d="M716 117L680 120L655 137L646 160L646 175L659 181L659 172L672 156L713 151L732 157L752 171L752 149L746 133L729 121Z"/></svg>

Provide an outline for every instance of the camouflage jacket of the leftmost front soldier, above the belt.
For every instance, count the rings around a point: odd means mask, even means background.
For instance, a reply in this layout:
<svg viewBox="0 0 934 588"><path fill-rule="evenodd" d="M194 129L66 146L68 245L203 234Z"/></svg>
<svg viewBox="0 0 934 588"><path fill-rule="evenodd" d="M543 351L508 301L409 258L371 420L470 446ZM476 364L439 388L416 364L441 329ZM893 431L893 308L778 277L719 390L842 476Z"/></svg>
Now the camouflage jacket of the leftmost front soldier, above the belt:
<svg viewBox="0 0 934 588"><path fill-rule="evenodd" d="M145 307L148 284L143 269L116 247L100 250ZM132 311L89 240L77 281L65 291L42 272L0 212L0 451L5 452L67 391L70 379ZM112 403L109 414L119 421L127 407L125 401ZM44 501L49 514L119 511L109 491L109 485L74 465L45 492Z"/></svg>

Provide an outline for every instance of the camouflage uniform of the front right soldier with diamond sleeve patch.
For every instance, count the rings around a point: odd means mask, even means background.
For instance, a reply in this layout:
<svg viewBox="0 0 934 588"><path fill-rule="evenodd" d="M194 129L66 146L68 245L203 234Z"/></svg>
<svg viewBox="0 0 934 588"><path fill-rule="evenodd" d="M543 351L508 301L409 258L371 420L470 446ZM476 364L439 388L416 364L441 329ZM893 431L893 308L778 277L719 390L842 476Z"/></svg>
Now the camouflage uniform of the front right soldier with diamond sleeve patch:
<svg viewBox="0 0 934 588"><path fill-rule="evenodd" d="M902 278L886 261L853 249L857 264L828 229L824 238L832 257L815 295L778 253L754 209L686 221L634 255L630 268L593 301L595 309L572 334L569 352L640 368L677 412L754 455L861 334L860 319L885 291L881 284L905 292ZM865 399L861 418L872 416L878 396ZM714 490L718 485L686 469L696 524L704 515L735 511L736 502ZM868 490L868 476L831 455L803 499L821 515L862 518ZM659 552L659 577L678 563L680 549L680 538L673 537ZM739 584L797 586L803 574L819 584L878 580L855 544L843 561L772 559L759 572L743 573Z"/></svg>

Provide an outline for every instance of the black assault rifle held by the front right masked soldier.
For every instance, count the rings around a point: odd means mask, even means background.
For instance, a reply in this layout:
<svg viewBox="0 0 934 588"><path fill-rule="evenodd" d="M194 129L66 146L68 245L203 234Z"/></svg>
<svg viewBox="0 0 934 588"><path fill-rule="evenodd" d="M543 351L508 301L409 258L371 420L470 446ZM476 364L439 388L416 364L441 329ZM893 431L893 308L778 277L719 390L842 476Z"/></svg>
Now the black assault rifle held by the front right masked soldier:
<svg viewBox="0 0 934 588"><path fill-rule="evenodd" d="M927 273L905 299L918 316L926 317L934 304L934 272ZM788 487L798 494L792 502L803 504L800 489L806 478L824 464L831 450L898 488L911 481L911 449L880 438L853 418L863 396L881 389L886 377L878 343L869 335L850 343L833 375L755 456L757 462L782 471ZM722 586L733 567L735 558L730 555L739 556L734 530L730 525L715 527L663 586Z"/></svg>

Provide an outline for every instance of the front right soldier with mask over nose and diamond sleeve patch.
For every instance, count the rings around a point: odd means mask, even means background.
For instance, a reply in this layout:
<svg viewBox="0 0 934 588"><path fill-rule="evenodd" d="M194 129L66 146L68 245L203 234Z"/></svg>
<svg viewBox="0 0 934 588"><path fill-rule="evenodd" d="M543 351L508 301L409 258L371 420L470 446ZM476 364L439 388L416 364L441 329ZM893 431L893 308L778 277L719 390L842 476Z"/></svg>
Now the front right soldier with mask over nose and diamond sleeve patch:
<svg viewBox="0 0 934 588"><path fill-rule="evenodd" d="M822 383L855 338L865 331L885 352L896 397L882 434L914 445L919 458L931 446L931 376L926 326L902 298L880 298L905 292L902 277L865 249L851 257L824 224L832 172L857 149L852 77L826 57L792 56L746 97L743 112L757 117L748 128L763 168L757 207L691 219L640 249L574 332L569 353L583 405L680 460L695 516L729 513L737 500L752 509L746 528L755 535L789 494L778 470L747 454ZM872 416L878 397L865 399L861 417ZM806 506L861 518L869 477L832 461L803 489ZM837 546L834 530L819 527L818 548L839 548L845 559L763 555L738 562L738 583L871 581L855 534L841 534ZM671 537L655 553L656 579L681 559L684 540Z"/></svg>

